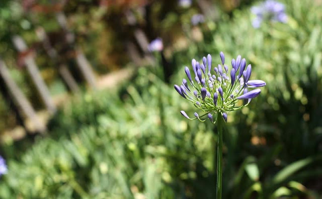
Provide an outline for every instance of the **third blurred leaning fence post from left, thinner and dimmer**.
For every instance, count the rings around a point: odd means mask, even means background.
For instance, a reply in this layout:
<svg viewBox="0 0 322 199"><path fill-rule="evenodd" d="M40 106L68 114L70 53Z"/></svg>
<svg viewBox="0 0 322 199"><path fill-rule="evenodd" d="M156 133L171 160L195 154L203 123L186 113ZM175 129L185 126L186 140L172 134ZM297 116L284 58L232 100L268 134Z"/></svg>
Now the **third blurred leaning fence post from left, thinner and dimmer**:
<svg viewBox="0 0 322 199"><path fill-rule="evenodd" d="M43 47L46 53L48 54L48 56L52 59L55 65L58 65L58 72L61 75L62 79L67 84L68 88L72 92L75 92L75 93L78 92L79 88L74 77L68 70L68 67L65 64L62 64L58 61L59 56L57 54L57 51L52 47L45 30L42 27L38 27L36 29L36 35L39 38L39 40L42 42Z"/></svg>

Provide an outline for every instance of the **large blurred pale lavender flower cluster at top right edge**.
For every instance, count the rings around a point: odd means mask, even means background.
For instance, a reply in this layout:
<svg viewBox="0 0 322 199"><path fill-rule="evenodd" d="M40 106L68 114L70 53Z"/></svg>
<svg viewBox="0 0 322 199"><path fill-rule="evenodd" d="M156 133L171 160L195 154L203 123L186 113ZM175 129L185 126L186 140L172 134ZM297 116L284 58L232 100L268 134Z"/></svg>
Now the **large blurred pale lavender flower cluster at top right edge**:
<svg viewBox="0 0 322 199"><path fill-rule="evenodd" d="M287 21L284 5L273 0L267 0L260 6L252 7L251 12L256 15L256 18L253 20L254 28L259 28L264 20L282 23Z"/></svg>

